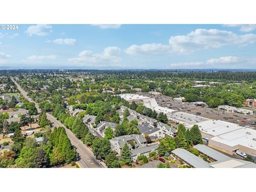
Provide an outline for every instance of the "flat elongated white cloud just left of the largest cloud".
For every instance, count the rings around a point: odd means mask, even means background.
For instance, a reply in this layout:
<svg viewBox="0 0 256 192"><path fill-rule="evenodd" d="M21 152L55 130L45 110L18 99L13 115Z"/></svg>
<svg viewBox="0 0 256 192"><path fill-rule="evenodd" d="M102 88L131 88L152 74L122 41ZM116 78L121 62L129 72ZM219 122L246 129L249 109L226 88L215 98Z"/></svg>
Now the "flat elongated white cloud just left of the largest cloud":
<svg viewBox="0 0 256 192"><path fill-rule="evenodd" d="M163 45L158 43L143 44L143 45L131 45L125 50L125 53L131 55L147 55L147 54L161 54L170 51L169 45Z"/></svg>

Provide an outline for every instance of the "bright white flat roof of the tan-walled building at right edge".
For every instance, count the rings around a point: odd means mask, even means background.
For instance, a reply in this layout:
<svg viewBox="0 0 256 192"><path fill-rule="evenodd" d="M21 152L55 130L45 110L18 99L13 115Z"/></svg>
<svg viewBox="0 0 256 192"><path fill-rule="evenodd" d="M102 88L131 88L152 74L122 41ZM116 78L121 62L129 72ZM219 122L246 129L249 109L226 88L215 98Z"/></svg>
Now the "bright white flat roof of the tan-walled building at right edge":
<svg viewBox="0 0 256 192"><path fill-rule="evenodd" d="M245 127L213 137L211 140L231 147L241 145L256 150L256 130Z"/></svg>

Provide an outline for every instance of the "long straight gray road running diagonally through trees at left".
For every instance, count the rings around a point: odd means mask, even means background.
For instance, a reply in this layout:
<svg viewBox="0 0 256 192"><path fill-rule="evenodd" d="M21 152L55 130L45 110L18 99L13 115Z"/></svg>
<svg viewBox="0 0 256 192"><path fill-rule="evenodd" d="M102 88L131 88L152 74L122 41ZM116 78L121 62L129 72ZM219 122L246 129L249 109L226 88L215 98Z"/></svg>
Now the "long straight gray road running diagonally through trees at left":
<svg viewBox="0 0 256 192"><path fill-rule="evenodd" d="M24 91L21 86L11 77L12 81L15 83L17 86L17 89L20 91L20 93L25 97L29 102L34 102L31 98L28 97L28 93ZM41 109L38 107L38 103L35 103L35 107L37 108L38 112L40 113ZM65 125L63 125L60 121L58 121L56 118L54 118L51 114L46 113L47 118L53 123L54 126L62 126L65 128L66 133L68 135L68 138L71 142L72 145L76 147L76 151L81 157L79 160L79 164L83 168L104 168L103 166L92 154L92 152L87 148L84 143L77 139L75 135L67 129Z"/></svg>

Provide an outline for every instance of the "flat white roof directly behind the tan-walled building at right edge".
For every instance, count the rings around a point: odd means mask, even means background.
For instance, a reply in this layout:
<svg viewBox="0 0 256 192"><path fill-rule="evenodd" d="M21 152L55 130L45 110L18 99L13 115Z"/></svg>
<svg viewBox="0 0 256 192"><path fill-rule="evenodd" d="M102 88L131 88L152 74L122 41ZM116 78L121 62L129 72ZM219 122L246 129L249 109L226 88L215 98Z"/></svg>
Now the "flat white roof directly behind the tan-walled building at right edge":
<svg viewBox="0 0 256 192"><path fill-rule="evenodd" d="M194 124L188 125L187 127L190 129ZM230 131L235 131L242 129L242 126L239 126L234 123L229 123L221 120L213 120L210 119L208 121L203 121L201 123L196 123L199 126L199 130L202 133L209 134L214 136L218 136L224 133L228 133Z"/></svg>

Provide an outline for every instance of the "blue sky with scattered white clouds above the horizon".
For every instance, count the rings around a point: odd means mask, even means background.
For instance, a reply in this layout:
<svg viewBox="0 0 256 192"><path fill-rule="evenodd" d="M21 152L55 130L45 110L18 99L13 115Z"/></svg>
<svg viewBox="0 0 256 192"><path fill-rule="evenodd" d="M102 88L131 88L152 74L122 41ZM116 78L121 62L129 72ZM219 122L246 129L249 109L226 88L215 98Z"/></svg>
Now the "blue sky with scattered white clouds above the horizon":
<svg viewBox="0 0 256 192"><path fill-rule="evenodd" d="M0 69L255 69L256 25L18 25Z"/></svg>

